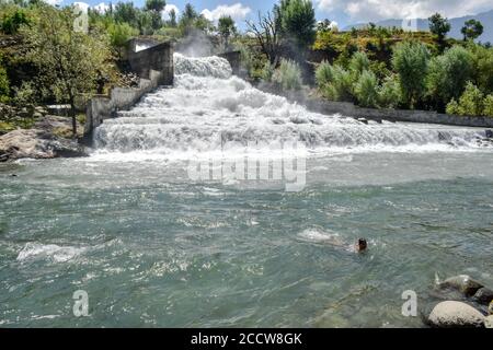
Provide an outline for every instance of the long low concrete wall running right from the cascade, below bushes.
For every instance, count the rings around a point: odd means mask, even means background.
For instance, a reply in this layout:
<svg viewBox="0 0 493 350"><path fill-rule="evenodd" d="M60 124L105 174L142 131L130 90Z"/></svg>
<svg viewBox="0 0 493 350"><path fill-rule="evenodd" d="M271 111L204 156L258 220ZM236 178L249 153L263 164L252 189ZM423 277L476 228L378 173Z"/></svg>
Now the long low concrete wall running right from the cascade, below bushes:
<svg viewBox="0 0 493 350"><path fill-rule="evenodd" d="M282 95L290 101L305 105L309 110L321 114L341 114L353 118L366 118L370 120L410 121L442 124L466 127L493 128L493 117L465 117L447 114L439 114L429 110L408 110L408 109L376 109L362 108L347 102L331 102L323 98L307 97L303 92L282 92L273 85L260 85L259 89Z"/></svg>

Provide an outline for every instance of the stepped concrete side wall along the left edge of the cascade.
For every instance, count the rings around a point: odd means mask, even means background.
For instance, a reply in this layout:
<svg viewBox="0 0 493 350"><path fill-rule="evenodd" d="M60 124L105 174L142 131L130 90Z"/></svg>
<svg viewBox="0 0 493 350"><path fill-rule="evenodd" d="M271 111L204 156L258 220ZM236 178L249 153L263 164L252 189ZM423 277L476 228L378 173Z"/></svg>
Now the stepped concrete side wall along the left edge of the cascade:
<svg viewBox="0 0 493 350"><path fill-rule="evenodd" d="M110 96L94 96L85 110L84 135L90 136L104 119L116 117L118 110L129 109L140 97L160 85L163 72L149 70L150 79L140 79L139 88L115 88Z"/></svg>

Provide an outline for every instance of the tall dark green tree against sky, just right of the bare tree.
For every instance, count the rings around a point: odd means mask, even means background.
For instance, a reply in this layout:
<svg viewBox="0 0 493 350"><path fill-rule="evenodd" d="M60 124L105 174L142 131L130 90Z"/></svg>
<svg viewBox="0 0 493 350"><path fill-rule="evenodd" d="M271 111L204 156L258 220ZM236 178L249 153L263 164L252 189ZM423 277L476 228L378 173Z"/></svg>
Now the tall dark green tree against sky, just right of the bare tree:
<svg viewBox="0 0 493 350"><path fill-rule="evenodd" d="M302 50L311 46L316 39L316 16L313 4L309 0L283 0L277 10L280 16L283 37L294 40Z"/></svg>

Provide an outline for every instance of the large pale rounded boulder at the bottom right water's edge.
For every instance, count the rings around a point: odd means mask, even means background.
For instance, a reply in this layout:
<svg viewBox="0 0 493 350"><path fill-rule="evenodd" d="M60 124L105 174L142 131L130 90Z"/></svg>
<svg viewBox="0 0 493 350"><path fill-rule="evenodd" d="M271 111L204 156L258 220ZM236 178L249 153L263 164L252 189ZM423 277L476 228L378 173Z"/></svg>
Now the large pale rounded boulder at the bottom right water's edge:
<svg viewBox="0 0 493 350"><path fill-rule="evenodd" d="M466 303L446 301L433 308L428 323L438 328L480 328L484 326L484 318L479 311Z"/></svg>

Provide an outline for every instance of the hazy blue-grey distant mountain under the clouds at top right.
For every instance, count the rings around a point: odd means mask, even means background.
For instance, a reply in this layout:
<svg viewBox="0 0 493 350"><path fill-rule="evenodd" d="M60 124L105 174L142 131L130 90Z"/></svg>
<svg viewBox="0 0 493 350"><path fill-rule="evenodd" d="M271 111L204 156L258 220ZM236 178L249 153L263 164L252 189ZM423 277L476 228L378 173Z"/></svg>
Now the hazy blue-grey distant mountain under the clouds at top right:
<svg viewBox="0 0 493 350"><path fill-rule="evenodd" d="M486 43L490 42L493 44L493 10L483 12L477 15L466 15L463 18L457 18L457 19L449 19L451 30L448 33L449 37L454 37L457 39L462 38L462 34L460 33L460 30L463 26L463 23L468 20L478 20L480 21L484 26L483 35L479 37L479 40ZM400 27L402 25L402 20L385 20L380 22L376 22L375 24L386 27L392 27L397 26ZM368 23L358 23L358 24L352 24L343 28L343 31L351 31L351 28L362 28L364 26L368 25ZM419 19L417 20L417 28L420 31L428 31L428 20L426 19Z"/></svg>

